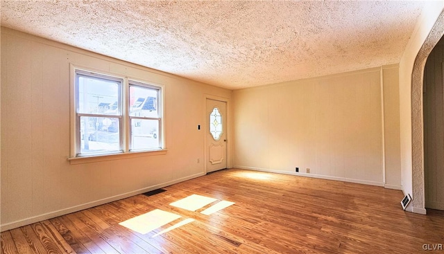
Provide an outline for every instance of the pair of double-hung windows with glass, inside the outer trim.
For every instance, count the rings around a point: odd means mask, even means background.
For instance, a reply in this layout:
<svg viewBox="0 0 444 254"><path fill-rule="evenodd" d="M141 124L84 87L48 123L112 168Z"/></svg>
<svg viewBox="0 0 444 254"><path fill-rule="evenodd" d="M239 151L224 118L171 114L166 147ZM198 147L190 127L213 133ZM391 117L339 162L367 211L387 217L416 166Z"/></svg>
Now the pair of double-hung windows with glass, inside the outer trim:
<svg viewBox="0 0 444 254"><path fill-rule="evenodd" d="M75 156L162 149L162 87L75 70Z"/></svg>

